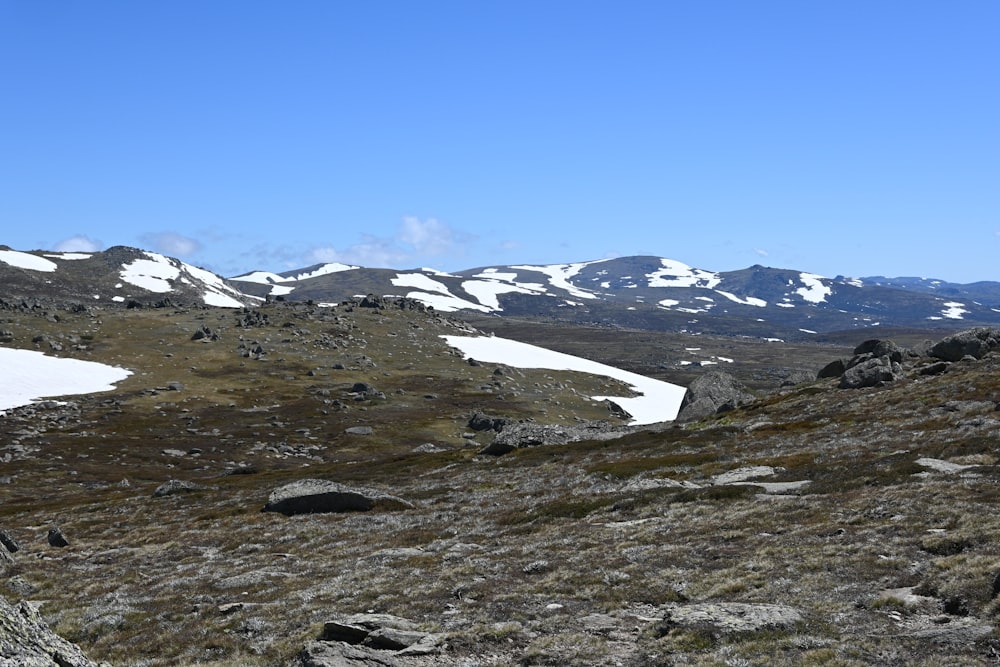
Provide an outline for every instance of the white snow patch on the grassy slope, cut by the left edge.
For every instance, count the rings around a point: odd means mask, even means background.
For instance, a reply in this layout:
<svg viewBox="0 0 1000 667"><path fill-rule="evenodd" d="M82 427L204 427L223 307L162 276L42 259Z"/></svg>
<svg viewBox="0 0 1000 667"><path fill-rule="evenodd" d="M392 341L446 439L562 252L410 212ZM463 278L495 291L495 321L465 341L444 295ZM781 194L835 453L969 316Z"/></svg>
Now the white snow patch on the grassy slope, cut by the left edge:
<svg viewBox="0 0 1000 667"><path fill-rule="evenodd" d="M0 412L46 396L111 391L131 371L93 361L47 357L34 350L0 347Z"/></svg>

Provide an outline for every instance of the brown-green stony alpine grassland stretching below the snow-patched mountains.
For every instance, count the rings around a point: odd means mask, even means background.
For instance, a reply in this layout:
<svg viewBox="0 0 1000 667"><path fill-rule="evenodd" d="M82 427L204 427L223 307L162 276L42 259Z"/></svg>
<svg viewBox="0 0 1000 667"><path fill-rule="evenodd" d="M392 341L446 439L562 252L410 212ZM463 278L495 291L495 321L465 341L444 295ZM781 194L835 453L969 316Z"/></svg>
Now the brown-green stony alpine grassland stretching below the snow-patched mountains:
<svg viewBox="0 0 1000 667"><path fill-rule="evenodd" d="M469 363L440 336L474 328L407 301L5 302L0 330L134 371L0 417L0 529L19 547L0 549L2 597L95 661L1000 656L1000 355L985 334L954 361L920 332L857 356L863 338L549 336L674 381L698 374L676 355L700 348L756 395L634 429L583 398L614 381ZM842 388L851 369L878 386ZM572 437L481 453L519 422ZM301 513L348 502L343 489L367 506ZM327 495L285 503L303 490Z"/></svg>

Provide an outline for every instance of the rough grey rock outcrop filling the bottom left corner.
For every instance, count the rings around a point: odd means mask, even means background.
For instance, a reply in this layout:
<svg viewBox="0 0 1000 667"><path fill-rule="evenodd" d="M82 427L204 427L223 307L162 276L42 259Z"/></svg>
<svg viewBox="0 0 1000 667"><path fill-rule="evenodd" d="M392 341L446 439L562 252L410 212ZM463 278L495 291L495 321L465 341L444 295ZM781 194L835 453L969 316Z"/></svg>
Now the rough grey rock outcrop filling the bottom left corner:
<svg viewBox="0 0 1000 667"><path fill-rule="evenodd" d="M52 632L27 602L0 598L0 667L98 667L80 647Z"/></svg>

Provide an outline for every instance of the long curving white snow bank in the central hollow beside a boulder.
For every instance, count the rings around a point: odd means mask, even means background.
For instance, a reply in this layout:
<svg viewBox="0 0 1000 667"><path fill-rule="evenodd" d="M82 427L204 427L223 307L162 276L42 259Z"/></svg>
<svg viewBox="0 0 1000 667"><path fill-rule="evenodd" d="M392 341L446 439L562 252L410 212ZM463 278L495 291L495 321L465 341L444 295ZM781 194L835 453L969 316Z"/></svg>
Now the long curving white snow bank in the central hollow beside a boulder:
<svg viewBox="0 0 1000 667"><path fill-rule="evenodd" d="M452 347L458 348L465 355L478 361L507 364L517 368L579 371L621 380L641 396L592 396L591 398L595 401L605 399L614 401L632 415L631 423L634 425L655 424L676 419L681 400L687 391L676 384L507 338L491 336L442 336L442 338Z"/></svg>

